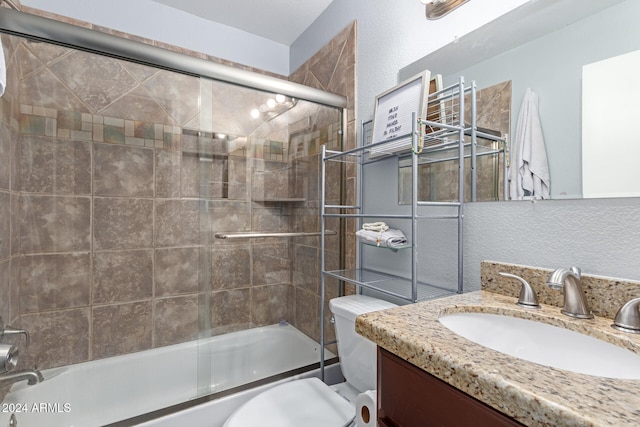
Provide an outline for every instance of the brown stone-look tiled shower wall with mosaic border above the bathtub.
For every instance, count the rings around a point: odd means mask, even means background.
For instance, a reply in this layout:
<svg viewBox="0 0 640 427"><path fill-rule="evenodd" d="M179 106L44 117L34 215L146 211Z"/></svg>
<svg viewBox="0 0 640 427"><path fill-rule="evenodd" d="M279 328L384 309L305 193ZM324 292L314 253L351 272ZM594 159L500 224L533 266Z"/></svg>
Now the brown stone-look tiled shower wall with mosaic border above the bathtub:
<svg viewBox="0 0 640 427"><path fill-rule="evenodd" d="M0 309L33 334L24 365L66 365L283 318L317 338L317 315L309 315L319 303L319 274L309 274L319 273L317 238L211 237L318 229L310 180L304 204L247 199L255 184L246 171L304 169L283 161L286 146L255 138L248 154L229 156L223 199L215 149L202 155L220 141L189 131L208 126L197 108L207 82L2 39L13 83L0 98ZM105 70L117 85L101 78ZM305 136L315 147L311 174L319 144L335 148L338 129ZM203 304L210 319L198 317Z"/></svg>

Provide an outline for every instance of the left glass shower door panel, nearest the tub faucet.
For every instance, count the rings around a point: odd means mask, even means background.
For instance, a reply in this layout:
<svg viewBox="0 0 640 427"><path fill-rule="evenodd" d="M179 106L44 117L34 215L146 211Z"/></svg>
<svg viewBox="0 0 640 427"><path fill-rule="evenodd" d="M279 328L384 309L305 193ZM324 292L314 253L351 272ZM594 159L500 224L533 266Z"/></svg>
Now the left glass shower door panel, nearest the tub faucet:
<svg viewBox="0 0 640 427"><path fill-rule="evenodd" d="M18 422L104 425L192 399L210 280L207 198L186 152L200 131L200 80L16 36L2 43L12 279L0 315L31 333L19 368L45 378L11 396L73 409Z"/></svg>

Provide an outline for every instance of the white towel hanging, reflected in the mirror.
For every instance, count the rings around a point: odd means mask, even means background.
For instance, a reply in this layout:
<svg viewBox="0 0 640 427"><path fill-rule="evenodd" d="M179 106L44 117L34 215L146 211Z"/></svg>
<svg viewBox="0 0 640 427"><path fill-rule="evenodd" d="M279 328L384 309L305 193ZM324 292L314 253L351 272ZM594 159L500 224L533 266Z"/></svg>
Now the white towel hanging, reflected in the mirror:
<svg viewBox="0 0 640 427"><path fill-rule="evenodd" d="M538 96L527 89L520 107L511 150L509 195L512 200L548 199L550 176L547 150L538 113Z"/></svg>

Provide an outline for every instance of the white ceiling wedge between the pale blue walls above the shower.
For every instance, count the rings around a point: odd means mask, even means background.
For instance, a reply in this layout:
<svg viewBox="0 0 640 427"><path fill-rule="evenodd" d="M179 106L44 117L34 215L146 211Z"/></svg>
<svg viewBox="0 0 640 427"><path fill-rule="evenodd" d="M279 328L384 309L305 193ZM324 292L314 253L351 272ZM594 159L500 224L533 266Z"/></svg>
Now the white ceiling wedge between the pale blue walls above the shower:
<svg viewBox="0 0 640 427"><path fill-rule="evenodd" d="M291 46L333 0L153 0Z"/></svg>

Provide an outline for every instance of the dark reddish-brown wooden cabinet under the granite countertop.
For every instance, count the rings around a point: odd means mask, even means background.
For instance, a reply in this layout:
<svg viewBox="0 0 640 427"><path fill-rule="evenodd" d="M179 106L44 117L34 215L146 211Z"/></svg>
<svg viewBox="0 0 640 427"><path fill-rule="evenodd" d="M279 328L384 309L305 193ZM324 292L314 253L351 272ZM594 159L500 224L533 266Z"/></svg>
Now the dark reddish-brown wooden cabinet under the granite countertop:
<svg viewBox="0 0 640 427"><path fill-rule="evenodd" d="M523 425L380 347L377 382L380 427Z"/></svg>

